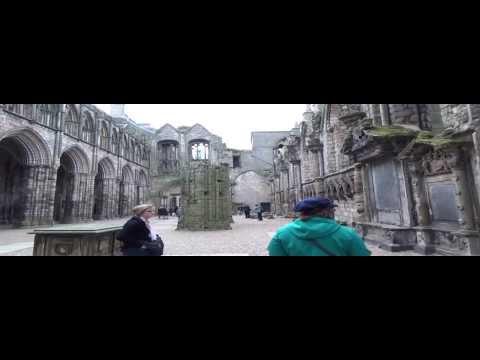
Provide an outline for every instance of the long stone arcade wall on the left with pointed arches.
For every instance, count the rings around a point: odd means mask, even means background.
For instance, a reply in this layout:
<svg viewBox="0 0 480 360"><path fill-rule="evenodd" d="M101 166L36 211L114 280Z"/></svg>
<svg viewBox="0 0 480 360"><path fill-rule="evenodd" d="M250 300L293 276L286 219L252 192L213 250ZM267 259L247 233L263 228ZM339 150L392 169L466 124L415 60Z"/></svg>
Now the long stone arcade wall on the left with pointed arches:
<svg viewBox="0 0 480 360"><path fill-rule="evenodd" d="M89 104L0 104L0 224L129 215L148 194L149 136Z"/></svg>

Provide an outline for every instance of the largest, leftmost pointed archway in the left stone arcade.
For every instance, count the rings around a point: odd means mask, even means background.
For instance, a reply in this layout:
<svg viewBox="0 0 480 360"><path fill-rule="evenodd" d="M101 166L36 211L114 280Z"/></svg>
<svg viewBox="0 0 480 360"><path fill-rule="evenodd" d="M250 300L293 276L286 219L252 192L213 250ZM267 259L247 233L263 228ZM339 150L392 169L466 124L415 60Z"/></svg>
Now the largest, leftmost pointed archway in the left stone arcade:
<svg viewBox="0 0 480 360"><path fill-rule="evenodd" d="M50 152L39 135L18 129L0 139L0 225L48 223Z"/></svg>

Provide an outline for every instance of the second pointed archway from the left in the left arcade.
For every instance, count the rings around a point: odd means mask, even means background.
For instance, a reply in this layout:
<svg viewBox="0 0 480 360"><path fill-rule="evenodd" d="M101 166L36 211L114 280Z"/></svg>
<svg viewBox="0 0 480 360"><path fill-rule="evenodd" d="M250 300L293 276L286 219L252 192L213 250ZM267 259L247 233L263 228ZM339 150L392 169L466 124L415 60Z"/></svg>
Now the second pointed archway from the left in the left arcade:
<svg viewBox="0 0 480 360"><path fill-rule="evenodd" d="M55 222L68 224L89 218L88 169L88 159L78 147L68 149L60 157L53 211Z"/></svg>

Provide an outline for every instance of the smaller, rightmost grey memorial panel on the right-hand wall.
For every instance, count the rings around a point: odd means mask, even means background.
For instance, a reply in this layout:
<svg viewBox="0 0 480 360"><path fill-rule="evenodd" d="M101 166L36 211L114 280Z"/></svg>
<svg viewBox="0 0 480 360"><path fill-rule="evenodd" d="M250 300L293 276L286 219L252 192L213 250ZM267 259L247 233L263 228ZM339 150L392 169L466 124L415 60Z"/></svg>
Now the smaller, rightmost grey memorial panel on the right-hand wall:
<svg viewBox="0 0 480 360"><path fill-rule="evenodd" d="M429 184L429 197L434 221L458 221L456 186L453 183Z"/></svg>

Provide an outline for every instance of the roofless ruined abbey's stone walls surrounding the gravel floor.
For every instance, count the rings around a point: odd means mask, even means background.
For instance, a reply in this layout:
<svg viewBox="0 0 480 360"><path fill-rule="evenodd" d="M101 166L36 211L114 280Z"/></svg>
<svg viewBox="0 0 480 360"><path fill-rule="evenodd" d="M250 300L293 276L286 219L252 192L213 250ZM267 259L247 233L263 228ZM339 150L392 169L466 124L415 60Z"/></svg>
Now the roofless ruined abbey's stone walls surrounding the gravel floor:
<svg viewBox="0 0 480 360"><path fill-rule="evenodd" d="M122 104L0 104L0 226L190 201L186 223L226 228L245 205L294 217L301 199L326 196L385 249L478 255L479 129L479 104L309 104L293 129L253 132L246 151L200 124L139 124Z"/></svg>

